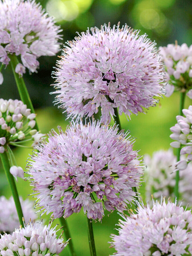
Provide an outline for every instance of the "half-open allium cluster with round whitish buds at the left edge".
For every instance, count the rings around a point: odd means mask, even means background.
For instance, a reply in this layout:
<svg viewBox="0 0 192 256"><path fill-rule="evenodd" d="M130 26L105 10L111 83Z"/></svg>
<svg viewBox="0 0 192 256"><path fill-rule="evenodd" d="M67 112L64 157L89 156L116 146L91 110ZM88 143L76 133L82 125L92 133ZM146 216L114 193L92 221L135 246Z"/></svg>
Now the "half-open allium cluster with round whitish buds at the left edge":
<svg viewBox="0 0 192 256"><path fill-rule="evenodd" d="M35 126L36 114L21 100L0 99L0 153L4 153L7 144L20 145L24 141L32 140L32 146L45 136L39 133Z"/></svg>

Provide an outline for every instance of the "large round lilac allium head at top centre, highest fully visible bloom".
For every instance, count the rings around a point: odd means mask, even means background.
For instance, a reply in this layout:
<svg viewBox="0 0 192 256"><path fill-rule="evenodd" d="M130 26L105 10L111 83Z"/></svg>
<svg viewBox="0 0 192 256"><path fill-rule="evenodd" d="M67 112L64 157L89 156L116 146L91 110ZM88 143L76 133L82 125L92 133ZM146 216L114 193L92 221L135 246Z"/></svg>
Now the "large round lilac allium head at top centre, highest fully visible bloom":
<svg viewBox="0 0 192 256"><path fill-rule="evenodd" d="M91 28L63 49L57 62L55 103L69 116L91 117L101 108L110 121L114 108L130 116L154 106L162 94L163 67L155 42L127 25Z"/></svg>

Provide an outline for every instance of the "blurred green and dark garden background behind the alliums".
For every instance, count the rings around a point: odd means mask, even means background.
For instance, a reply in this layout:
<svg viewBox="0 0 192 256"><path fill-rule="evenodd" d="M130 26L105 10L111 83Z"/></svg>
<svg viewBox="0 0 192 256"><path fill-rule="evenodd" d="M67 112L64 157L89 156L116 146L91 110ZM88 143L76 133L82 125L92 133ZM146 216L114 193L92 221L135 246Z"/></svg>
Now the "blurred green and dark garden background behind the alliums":
<svg viewBox="0 0 192 256"><path fill-rule="evenodd" d="M156 41L157 47L166 46L168 43L187 43L191 45L192 39L192 2L191 0L42 0L39 1L43 8L54 16L57 23L63 29L63 43L72 40L76 31L81 32L87 27L97 26L111 22L111 26L120 21L121 25L127 24L134 29L139 29L140 34L147 33L152 41ZM58 53L60 55L61 53ZM49 93L54 90L50 86L54 82L51 77L57 56L39 58L40 69L36 74L25 74L31 100L36 109L38 125L41 132L48 133L52 128L60 125L66 128L68 121L62 111L53 106L54 95ZM4 99L19 98L11 68L8 66L2 71L4 82L0 86L0 96ZM185 107L191 104L187 99ZM135 150L140 154L150 154L159 149L168 149L171 139L169 128L176 122L175 116L179 109L179 95L174 93L170 98L161 98L160 103L138 116L131 116L128 121L121 117L122 128L129 129L130 134L136 137ZM15 149L18 165L25 167L31 150ZM11 195L3 170L0 172L0 193ZM28 181L19 180L18 190L23 198L31 194ZM141 187L142 191L142 187ZM32 196L30 196L32 198ZM115 224L119 215L112 213L108 217L106 212L102 223L93 223L95 243L98 256L113 254L114 249L109 248L110 234L117 233ZM49 216L43 218L48 220ZM55 220L56 224L57 221ZM86 230L86 218L82 211L73 214L68 219L72 233L72 239L78 255L89 255L88 238ZM62 255L69 255L68 249L64 249Z"/></svg>

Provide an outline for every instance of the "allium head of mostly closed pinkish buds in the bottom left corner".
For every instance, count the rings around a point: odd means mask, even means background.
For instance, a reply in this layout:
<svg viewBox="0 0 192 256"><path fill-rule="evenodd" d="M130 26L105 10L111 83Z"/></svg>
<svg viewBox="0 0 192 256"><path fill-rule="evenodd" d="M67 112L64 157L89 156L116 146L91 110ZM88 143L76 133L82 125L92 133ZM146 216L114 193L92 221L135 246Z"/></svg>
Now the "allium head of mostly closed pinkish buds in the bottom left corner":
<svg viewBox="0 0 192 256"><path fill-rule="evenodd" d="M4 234L0 238L0 255L58 256L67 242L57 238L56 227L42 226L42 223L30 222L24 228L16 229L13 234Z"/></svg>

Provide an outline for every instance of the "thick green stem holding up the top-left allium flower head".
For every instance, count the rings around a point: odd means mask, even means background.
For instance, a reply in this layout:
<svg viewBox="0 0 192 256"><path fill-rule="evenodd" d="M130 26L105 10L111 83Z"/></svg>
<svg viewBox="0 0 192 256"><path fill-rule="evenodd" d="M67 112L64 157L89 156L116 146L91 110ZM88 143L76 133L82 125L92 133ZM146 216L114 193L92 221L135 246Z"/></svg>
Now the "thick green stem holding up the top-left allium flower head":
<svg viewBox="0 0 192 256"><path fill-rule="evenodd" d="M11 62L11 68L12 68L12 71L13 71L13 74L14 74L14 78L15 78L15 81L16 81L16 84L17 84L17 88L18 88L18 91L19 91L20 98L23 101L23 103L27 105L27 108L31 109L31 113L35 113L32 102L31 102L31 99L30 99L30 96L29 96L29 93L28 93L28 90L27 90L27 87L26 87L25 82L24 82L24 79L23 79L23 77L21 77L19 74L17 74L15 72L15 68L16 68L17 64L19 63L19 61L17 59L17 56L15 54L13 54L13 55L9 55L9 58L11 60L10 61ZM35 127L33 129L39 130L38 126L37 126L37 122L35 123Z"/></svg>

